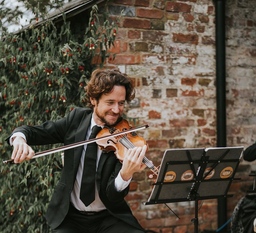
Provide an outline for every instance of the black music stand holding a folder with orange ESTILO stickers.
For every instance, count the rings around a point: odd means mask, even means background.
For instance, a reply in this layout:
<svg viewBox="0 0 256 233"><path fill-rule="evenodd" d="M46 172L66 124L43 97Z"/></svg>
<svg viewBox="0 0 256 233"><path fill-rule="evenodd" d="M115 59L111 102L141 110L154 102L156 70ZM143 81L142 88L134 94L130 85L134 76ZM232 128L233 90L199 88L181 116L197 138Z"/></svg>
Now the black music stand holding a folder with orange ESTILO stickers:
<svg viewBox="0 0 256 233"><path fill-rule="evenodd" d="M153 191L145 205L195 201L191 221L198 233L198 200L227 195L239 165L243 147L168 149L165 151Z"/></svg>

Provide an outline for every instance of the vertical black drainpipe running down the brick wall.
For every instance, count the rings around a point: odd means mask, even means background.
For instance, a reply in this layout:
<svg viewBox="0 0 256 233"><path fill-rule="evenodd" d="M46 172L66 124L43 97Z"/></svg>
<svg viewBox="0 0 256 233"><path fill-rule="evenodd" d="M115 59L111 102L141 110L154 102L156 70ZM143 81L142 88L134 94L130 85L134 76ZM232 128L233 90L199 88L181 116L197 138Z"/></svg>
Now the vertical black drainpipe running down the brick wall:
<svg viewBox="0 0 256 233"><path fill-rule="evenodd" d="M215 0L217 147L226 147L225 1ZM227 200L218 199L218 227L227 221ZM226 227L223 229L226 230ZM223 230L221 232L223 232Z"/></svg>

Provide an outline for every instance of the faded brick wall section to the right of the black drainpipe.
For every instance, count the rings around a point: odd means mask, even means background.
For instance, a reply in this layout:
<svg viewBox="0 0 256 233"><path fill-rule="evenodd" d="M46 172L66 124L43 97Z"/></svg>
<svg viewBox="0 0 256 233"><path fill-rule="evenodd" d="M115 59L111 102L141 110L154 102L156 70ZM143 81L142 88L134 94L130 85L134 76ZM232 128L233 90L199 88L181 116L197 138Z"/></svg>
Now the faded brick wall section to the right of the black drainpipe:
<svg viewBox="0 0 256 233"><path fill-rule="evenodd" d="M256 1L226 2L227 145L245 148L256 141ZM229 216L245 190L253 188L249 178L255 162L242 161L228 200ZM255 168L254 168L255 169Z"/></svg>

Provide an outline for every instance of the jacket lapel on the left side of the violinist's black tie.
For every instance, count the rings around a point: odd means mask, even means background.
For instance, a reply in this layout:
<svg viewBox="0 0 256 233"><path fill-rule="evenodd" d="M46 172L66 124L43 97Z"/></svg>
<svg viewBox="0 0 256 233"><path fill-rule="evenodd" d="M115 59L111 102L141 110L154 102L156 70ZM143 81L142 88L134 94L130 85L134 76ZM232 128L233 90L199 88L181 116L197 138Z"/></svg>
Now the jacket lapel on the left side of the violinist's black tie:
<svg viewBox="0 0 256 233"><path fill-rule="evenodd" d="M91 112L89 115L85 114L83 116L83 119L81 120L81 123L78 126L78 129L76 131L75 143L85 140L88 128L91 124L92 113L93 112ZM80 163L83 148L84 148L83 145L75 147L75 152L74 152L74 177L73 177L74 179L76 178L76 173L77 173L78 166L79 166L79 163Z"/></svg>

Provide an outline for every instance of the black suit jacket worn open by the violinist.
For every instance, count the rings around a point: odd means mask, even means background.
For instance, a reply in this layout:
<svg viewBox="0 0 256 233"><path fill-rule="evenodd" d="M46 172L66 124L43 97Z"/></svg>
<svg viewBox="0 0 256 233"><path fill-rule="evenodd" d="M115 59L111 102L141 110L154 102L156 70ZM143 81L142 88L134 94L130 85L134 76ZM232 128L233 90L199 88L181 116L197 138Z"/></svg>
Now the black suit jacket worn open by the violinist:
<svg viewBox="0 0 256 233"><path fill-rule="evenodd" d="M21 126L14 132L25 134L28 145L46 145L64 143L64 145L84 141L91 124L92 110L75 108L66 117L56 121L46 121L36 126ZM6 140L9 143L10 137ZM70 194L76 179L83 146L65 150L64 167L61 178L55 188L49 203L46 219L52 229L58 227L65 218L68 209ZM141 229L137 219L127 205L124 197L129 186L121 192L115 190L114 181L122 167L114 152L102 153L100 156L96 183L101 201L107 210L115 217Z"/></svg>

